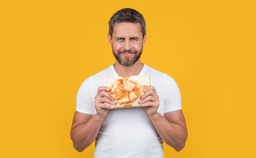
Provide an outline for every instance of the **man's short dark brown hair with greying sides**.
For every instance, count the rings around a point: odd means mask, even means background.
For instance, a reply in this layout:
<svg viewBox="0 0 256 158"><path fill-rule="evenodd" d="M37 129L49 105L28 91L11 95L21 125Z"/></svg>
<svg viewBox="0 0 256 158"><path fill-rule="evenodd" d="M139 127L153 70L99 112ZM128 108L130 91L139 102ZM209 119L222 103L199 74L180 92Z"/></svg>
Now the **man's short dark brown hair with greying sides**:
<svg viewBox="0 0 256 158"><path fill-rule="evenodd" d="M146 34L146 22L144 20L144 17L141 13L138 11L135 11L135 9L131 8L125 8L117 11L113 16L110 18L110 21L108 22L109 25L109 33L112 38L113 34L113 26L115 22L120 23L120 22L133 22L137 23L139 22L141 24L141 33L143 33L143 38L144 35Z"/></svg>

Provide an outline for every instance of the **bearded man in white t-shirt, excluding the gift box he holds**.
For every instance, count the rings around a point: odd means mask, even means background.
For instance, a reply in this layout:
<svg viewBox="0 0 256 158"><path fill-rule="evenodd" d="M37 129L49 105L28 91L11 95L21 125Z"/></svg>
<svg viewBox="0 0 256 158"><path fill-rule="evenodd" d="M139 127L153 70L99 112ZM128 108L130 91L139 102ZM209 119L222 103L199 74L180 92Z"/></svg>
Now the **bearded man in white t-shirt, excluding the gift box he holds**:
<svg viewBox="0 0 256 158"><path fill-rule="evenodd" d="M84 80L77 93L71 140L82 152L96 140L94 157L164 157L162 140L180 151L187 140L181 95L175 80L141 63L146 24L134 9L121 9L109 22L115 64ZM102 78L150 75L142 107L113 109ZM111 105L106 105L109 103Z"/></svg>

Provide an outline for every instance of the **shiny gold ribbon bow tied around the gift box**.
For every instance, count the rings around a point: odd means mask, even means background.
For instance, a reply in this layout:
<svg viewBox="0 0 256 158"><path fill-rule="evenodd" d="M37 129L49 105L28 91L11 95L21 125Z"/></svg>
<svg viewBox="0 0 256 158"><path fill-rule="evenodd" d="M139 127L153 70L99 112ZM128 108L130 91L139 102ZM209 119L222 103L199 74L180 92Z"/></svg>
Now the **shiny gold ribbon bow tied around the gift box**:
<svg viewBox="0 0 256 158"><path fill-rule="evenodd" d="M130 76L123 76L123 79L118 79L110 88L110 95L112 95L119 105L125 104L125 107L131 107L131 103L141 97L144 89L148 85L139 85L137 81L129 80Z"/></svg>

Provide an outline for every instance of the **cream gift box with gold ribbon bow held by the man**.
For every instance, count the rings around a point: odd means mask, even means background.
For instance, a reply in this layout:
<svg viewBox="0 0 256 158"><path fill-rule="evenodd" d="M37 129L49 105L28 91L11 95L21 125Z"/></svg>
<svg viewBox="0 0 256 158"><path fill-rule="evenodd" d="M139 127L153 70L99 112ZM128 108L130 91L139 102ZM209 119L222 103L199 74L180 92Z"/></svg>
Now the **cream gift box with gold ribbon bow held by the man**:
<svg viewBox="0 0 256 158"><path fill-rule="evenodd" d="M141 107L139 101L144 89L150 86L150 76L118 76L103 78L103 86L110 88L110 95L114 98L116 105L114 109L126 107ZM108 103L106 103L108 104ZM110 105L110 104L108 104Z"/></svg>

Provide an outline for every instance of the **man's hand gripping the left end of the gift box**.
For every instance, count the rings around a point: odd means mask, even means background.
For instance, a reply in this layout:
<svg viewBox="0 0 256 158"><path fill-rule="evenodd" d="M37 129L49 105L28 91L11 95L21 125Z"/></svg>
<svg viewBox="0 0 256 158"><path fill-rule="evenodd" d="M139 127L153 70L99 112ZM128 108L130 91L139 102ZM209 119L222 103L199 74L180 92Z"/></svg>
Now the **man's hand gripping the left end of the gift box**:
<svg viewBox="0 0 256 158"><path fill-rule="evenodd" d="M97 114L100 118L105 119L106 115L108 114L108 111L110 109L113 109L112 105L115 105L116 103L113 101L112 95L110 95L108 92L110 91L110 88L107 87L99 87L97 95L94 97L94 106L97 111ZM111 105L107 105L104 103L109 103Z"/></svg>

